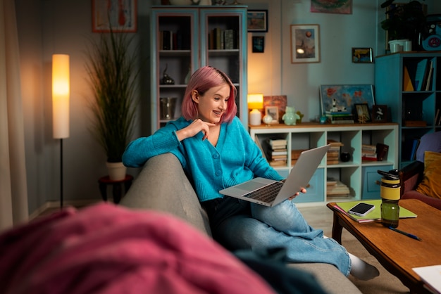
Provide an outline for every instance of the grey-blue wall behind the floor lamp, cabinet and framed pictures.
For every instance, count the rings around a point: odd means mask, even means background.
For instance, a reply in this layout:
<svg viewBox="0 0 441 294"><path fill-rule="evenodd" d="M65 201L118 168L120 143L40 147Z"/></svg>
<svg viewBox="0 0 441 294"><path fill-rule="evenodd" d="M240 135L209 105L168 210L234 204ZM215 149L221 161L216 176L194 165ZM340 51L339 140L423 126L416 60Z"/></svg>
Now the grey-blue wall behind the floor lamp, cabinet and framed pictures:
<svg viewBox="0 0 441 294"><path fill-rule="evenodd" d="M90 134L85 74L85 49L92 33L89 0L15 0L23 81L25 143L29 210L59 199L59 141L52 138L51 55L70 54L70 137L63 140L64 198L99 200L97 179L106 174L104 152ZM139 113L135 136L149 135L149 11L159 0L138 0ZM286 94L288 104L306 120L320 111L320 84L372 84L375 64L351 62L352 47L372 47L383 54L384 34L378 32L378 11L383 0L353 0L352 15L310 13L310 0L241 0L250 9L268 9L269 31L265 52L251 53L249 92ZM433 0L426 0L431 4ZM431 13L435 9L429 6ZM440 4L437 4L440 11ZM290 25L318 24L321 29L321 62L290 63ZM383 34L383 35L382 35ZM382 43L383 42L383 43ZM137 170L130 170L136 174Z"/></svg>

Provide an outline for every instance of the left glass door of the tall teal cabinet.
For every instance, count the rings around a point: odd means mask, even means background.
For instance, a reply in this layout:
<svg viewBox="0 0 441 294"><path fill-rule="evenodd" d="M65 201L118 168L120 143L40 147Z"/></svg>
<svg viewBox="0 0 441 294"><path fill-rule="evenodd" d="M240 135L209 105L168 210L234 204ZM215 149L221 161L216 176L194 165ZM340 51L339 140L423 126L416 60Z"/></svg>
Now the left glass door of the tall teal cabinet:
<svg viewBox="0 0 441 294"><path fill-rule="evenodd" d="M154 95L151 111L153 129L159 129L181 115L182 98L188 79L198 67L199 25L197 9L154 12L152 30L151 87Z"/></svg>

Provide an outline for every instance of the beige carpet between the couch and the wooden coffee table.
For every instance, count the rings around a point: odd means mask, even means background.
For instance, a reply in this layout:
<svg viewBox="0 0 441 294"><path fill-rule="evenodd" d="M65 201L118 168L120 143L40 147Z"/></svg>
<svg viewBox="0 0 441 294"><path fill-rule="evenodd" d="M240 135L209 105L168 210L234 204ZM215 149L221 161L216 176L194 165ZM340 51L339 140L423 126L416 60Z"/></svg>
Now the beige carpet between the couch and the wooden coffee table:
<svg viewBox="0 0 441 294"><path fill-rule="evenodd" d="M342 245L347 249L349 253L360 257L365 262L375 266L380 271L380 276L369 281L361 281L349 275L349 280L359 288L364 294L397 294L397 293L410 293L409 288L403 285L399 279L390 274L380 262L376 260L371 253L368 253L363 245L348 231L343 229L342 232Z"/></svg>

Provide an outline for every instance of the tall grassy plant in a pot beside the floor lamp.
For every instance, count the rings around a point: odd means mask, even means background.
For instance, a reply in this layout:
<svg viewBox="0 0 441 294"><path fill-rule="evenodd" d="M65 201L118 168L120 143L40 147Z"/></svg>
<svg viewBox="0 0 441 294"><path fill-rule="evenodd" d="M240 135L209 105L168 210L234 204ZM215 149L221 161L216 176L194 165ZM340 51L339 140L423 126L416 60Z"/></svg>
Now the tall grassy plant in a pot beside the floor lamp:
<svg viewBox="0 0 441 294"><path fill-rule="evenodd" d="M135 120L135 81L137 56L128 48L132 37L124 33L101 33L87 50L86 70L93 99L92 133L107 155L109 177L125 178L122 163L125 147L133 132ZM113 172L116 170L116 174Z"/></svg>

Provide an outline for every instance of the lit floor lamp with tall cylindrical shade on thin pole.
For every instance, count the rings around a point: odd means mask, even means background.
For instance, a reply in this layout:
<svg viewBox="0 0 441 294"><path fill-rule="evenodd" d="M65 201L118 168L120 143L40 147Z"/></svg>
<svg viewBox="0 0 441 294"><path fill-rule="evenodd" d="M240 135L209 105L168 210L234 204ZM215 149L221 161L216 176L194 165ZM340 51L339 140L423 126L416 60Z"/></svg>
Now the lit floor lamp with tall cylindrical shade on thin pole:
<svg viewBox="0 0 441 294"><path fill-rule="evenodd" d="M52 124L54 139L60 139L60 207L63 208L63 139L69 137L69 56L52 56Z"/></svg>

